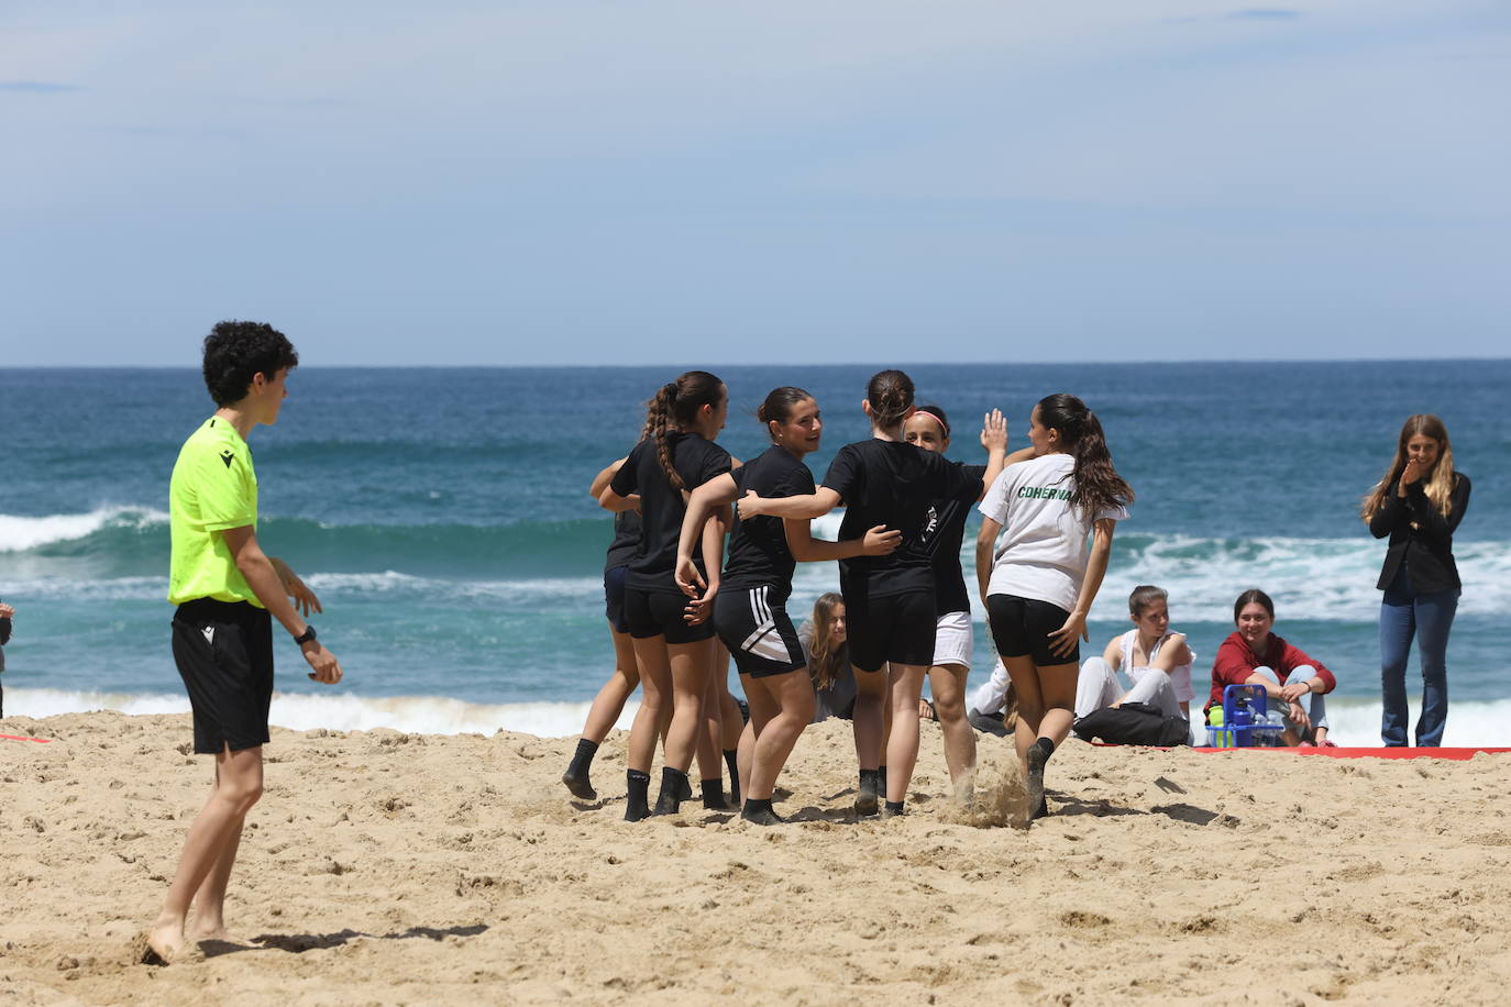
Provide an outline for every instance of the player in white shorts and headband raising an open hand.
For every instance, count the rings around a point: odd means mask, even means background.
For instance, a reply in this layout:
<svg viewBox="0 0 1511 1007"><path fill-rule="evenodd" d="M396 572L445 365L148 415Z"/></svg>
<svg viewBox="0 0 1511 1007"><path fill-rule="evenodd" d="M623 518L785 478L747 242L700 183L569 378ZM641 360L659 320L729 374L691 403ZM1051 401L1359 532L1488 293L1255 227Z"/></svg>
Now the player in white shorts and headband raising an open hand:
<svg viewBox="0 0 1511 1007"><path fill-rule="evenodd" d="M938 454L947 451L949 435L949 417L938 406L919 406L917 412L902 424L904 439L925 451ZM970 675L975 628L970 622L970 598L959 566L959 550L970 507L981 501L985 488L1008 460L1008 424L999 409L982 418L981 445L987 448L985 465L955 462L972 477L961 495L935 500L932 504L934 613L938 621L934 633L934 661L929 667L929 691L934 693L934 717L944 735L944 764L949 767L950 784L956 788L976 765L976 729L966 717L966 679ZM1031 457L1032 448L1023 448L1014 459L1018 456ZM976 489L976 480L981 480L981 489Z"/></svg>

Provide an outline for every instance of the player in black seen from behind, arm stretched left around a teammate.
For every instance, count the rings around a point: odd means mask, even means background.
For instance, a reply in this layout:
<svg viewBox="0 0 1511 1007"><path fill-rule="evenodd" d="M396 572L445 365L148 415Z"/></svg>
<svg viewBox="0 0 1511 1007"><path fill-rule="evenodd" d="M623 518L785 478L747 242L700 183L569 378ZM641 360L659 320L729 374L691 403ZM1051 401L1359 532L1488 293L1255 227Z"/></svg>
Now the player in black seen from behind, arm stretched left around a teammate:
<svg viewBox="0 0 1511 1007"><path fill-rule="evenodd" d="M846 444L830 463L817 492L784 500L745 494L740 518L817 518L845 504L840 537L855 539L873 525L902 533L888 556L858 556L840 562L840 592L849 624L855 669L855 755L860 759L857 814L876 811L878 765L887 746L887 814L902 814L919 756L919 696L923 673L934 663L934 569L929 550L929 507L963 495L972 479L944 457L902 439L913 415L913 379L884 370L866 386L872 438ZM888 669L890 666L890 669ZM891 710L885 726L882 704Z"/></svg>

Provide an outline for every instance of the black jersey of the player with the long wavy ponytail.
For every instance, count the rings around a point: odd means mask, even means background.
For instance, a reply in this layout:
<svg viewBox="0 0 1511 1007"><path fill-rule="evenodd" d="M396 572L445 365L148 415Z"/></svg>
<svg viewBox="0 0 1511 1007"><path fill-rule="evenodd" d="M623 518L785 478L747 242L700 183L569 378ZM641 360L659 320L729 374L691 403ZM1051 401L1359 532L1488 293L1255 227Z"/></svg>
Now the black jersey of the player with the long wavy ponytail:
<svg viewBox="0 0 1511 1007"><path fill-rule="evenodd" d="M672 468L681 476L683 489L692 492L715 476L730 471L730 453L697 433L672 432L666 435L666 450ZM641 545L630 560L630 572L624 586L635 590L660 590L681 593L674 569L677 566L677 540L681 537L681 519L688 503L681 489L675 489L656 457L656 441L648 438L635 445L624 465L609 483L621 497L641 495ZM695 559L701 559L697 550Z"/></svg>

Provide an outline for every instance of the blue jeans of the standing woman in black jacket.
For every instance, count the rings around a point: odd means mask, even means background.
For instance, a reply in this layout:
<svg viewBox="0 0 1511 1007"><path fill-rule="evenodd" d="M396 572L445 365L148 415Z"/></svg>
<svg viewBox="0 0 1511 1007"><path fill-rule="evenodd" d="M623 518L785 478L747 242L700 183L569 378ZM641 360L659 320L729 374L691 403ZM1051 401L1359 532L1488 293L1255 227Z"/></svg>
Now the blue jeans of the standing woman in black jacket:
<svg viewBox="0 0 1511 1007"><path fill-rule="evenodd" d="M1448 723L1448 631L1458 611L1458 589L1419 595L1410 580L1398 577L1386 590L1380 605L1380 687L1384 693L1384 714L1380 737L1387 746L1407 743L1407 658L1411 637L1417 637L1417 658L1422 664L1422 716L1417 719L1416 741L1422 747L1443 743Z"/></svg>

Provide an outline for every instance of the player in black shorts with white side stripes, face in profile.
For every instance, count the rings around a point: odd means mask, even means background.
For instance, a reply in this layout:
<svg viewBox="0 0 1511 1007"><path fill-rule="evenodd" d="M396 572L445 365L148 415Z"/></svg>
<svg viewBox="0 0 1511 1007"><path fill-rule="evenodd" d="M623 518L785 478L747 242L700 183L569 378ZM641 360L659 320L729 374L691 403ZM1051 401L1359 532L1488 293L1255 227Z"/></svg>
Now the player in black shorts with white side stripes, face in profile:
<svg viewBox="0 0 1511 1007"><path fill-rule="evenodd" d="M715 507L742 492L790 497L813 492L813 474L802 457L819 447L823 418L819 403L801 388L775 388L757 411L772 445L739 470L700 486L688 503L677 548L677 583L692 598L707 598L694 562L694 545ZM713 599L719 639L734 655L751 719L740 735L739 774L745 806L740 817L760 824L781 818L771 808L777 776L798 735L813 720L813 684L798 633L787 617L792 571L798 560L885 556L902 536L875 527L849 542L822 542L804 519L752 518L734 528L730 559Z"/></svg>

